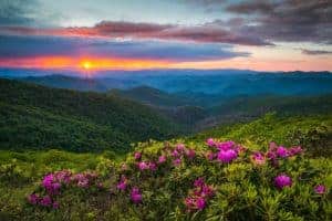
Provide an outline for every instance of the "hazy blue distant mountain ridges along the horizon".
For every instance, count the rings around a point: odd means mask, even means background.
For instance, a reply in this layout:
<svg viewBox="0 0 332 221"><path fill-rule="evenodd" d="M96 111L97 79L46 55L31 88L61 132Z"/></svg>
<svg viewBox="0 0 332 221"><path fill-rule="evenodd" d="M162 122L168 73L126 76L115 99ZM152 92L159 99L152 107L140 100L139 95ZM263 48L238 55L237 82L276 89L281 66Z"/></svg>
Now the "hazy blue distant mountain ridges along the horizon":
<svg viewBox="0 0 332 221"><path fill-rule="evenodd" d="M6 73L9 75L11 72ZM211 99L215 96L218 99L241 95L319 95L332 93L332 74L330 72L222 71L218 73L217 71L175 71L173 73L164 70L112 73L105 74L103 77L95 76L92 78L64 77L63 75L19 78L60 88L95 92L148 86L168 94L176 94L186 98L191 97L196 104L204 105L215 103L216 99ZM0 71L1 74L3 75Z"/></svg>

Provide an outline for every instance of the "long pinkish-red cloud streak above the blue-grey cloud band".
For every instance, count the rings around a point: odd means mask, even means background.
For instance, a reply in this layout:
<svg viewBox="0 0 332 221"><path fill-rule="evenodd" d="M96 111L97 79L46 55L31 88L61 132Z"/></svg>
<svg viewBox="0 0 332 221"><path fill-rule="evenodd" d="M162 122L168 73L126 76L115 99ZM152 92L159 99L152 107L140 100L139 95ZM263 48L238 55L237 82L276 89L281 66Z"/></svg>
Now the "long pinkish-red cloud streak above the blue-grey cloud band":
<svg viewBox="0 0 332 221"><path fill-rule="evenodd" d="M59 36L101 36L110 39L175 40L198 43L230 43L242 45L271 45L259 36L238 34L220 23L201 25L177 25L157 23L135 23L123 21L102 21L94 27L34 29L22 27L0 27L0 34L59 35Z"/></svg>

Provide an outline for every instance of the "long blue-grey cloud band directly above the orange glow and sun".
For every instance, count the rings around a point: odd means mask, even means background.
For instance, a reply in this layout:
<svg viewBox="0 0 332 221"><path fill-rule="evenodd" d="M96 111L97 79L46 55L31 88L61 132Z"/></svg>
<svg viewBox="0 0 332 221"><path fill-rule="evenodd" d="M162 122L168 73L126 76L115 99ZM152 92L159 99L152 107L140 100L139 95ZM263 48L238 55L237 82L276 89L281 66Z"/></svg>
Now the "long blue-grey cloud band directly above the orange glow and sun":
<svg viewBox="0 0 332 221"><path fill-rule="evenodd" d="M230 45L165 41L106 41L82 38L0 35L0 57L96 56L163 61L214 61L249 56Z"/></svg>

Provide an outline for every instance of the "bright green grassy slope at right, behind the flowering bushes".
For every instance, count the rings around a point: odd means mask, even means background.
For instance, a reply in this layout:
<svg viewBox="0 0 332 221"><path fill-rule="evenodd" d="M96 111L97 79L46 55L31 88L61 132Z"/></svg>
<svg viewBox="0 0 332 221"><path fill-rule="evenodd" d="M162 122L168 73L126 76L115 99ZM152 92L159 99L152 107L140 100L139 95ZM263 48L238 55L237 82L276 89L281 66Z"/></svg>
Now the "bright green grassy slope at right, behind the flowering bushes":
<svg viewBox="0 0 332 221"><path fill-rule="evenodd" d="M332 156L332 115L278 116L267 114L250 123L217 126L189 140L224 137L245 145L268 146L276 141L286 146L301 145L315 156Z"/></svg>

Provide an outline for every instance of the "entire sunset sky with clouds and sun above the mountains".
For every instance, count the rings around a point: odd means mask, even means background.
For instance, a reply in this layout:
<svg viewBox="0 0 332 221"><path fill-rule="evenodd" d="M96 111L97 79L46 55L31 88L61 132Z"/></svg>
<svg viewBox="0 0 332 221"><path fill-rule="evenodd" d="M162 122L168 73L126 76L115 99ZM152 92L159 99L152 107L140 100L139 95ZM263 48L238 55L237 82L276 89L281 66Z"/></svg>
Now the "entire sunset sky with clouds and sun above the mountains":
<svg viewBox="0 0 332 221"><path fill-rule="evenodd" d="M0 67L332 71L332 0L0 0Z"/></svg>

